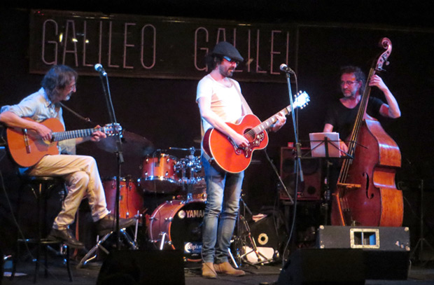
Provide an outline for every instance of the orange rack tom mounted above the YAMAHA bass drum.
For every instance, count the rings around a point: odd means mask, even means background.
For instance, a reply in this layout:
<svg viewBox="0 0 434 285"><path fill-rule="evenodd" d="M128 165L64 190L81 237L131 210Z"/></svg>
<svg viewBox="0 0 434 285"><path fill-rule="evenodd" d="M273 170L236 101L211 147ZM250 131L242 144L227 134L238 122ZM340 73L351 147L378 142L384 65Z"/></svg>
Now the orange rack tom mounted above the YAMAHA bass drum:
<svg viewBox="0 0 434 285"><path fill-rule="evenodd" d="M179 188L175 165L176 158L172 155L148 155L144 160L140 187L147 192L174 193Z"/></svg>

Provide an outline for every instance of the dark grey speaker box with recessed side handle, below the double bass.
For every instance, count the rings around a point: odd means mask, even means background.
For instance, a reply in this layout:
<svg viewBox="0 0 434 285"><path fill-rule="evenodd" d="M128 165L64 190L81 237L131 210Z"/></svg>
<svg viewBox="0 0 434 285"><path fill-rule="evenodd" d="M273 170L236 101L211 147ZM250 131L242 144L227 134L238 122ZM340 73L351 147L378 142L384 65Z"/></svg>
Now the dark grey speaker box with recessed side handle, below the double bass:
<svg viewBox="0 0 434 285"><path fill-rule="evenodd" d="M409 269L409 228L320 225L320 249L362 249L366 279L405 280Z"/></svg>

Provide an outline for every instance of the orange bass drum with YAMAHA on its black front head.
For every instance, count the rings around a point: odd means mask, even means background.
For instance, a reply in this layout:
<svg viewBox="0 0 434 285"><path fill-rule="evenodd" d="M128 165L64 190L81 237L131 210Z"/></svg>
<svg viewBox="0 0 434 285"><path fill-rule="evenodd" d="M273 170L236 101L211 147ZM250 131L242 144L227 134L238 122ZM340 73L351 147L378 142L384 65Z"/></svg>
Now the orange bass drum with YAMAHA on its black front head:
<svg viewBox="0 0 434 285"><path fill-rule="evenodd" d="M148 235L156 246L181 250L188 261L202 260L202 221L205 213L203 200L167 201L151 216Z"/></svg>

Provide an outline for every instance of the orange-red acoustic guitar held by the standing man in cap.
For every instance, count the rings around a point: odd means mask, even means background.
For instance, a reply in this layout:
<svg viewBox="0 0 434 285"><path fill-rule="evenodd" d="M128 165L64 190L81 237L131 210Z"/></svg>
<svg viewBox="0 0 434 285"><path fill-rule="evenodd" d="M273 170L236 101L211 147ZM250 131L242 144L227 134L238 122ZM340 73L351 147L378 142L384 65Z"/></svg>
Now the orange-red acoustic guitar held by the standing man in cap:
<svg viewBox="0 0 434 285"><path fill-rule="evenodd" d="M310 101L306 92L299 92L294 100L294 108L303 108ZM291 106L281 110L287 116L291 111ZM278 112L279 113L279 112ZM266 132L276 122L277 114L274 114L263 123L258 117L252 114L243 116L239 123L227 123L235 132L243 134L248 139L249 144L246 148L239 148L230 137L219 130L210 128L205 132L203 148L209 157L214 158L214 162L225 170L225 172L242 172L250 165L253 151L265 148L268 144L268 134Z"/></svg>

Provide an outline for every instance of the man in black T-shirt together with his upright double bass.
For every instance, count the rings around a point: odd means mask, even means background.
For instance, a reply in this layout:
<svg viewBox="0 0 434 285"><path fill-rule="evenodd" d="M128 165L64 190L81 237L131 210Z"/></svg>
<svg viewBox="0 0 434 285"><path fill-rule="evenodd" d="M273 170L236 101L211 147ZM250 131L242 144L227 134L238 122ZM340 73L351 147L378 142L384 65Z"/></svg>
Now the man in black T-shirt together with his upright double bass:
<svg viewBox="0 0 434 285"><path fill-rule="evenodd" d="M402 225L403 197L395 186L395 168L401 165L400 150L374 118L400 117L398 102L376 74L388 64L392 44L383 38L379 45L385 51L372 64L367 83L360 68L342 69L344 97L331 106L325 119L324 132L335 129L348 142L339 144L348 157L342 162L337 180L332 175L328 181L331 186L336 185L332 193L332 225ZM384 93L387 104L370 97L372 86Z"/></svg>

